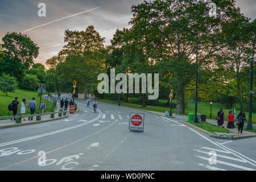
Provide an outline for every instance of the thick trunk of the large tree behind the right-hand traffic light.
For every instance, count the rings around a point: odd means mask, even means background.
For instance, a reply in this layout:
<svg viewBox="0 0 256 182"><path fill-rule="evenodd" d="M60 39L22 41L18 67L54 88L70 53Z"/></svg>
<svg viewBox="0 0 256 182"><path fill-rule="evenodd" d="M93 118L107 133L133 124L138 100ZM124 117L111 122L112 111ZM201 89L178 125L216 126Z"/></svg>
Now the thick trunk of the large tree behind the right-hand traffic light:
<svg viewBox="0 0 256 182"><path fill-rule="evenodd" d="M176 114L184 114L185 113L185 86L179 85L177 86L177 106L176 106Z"/></svg>

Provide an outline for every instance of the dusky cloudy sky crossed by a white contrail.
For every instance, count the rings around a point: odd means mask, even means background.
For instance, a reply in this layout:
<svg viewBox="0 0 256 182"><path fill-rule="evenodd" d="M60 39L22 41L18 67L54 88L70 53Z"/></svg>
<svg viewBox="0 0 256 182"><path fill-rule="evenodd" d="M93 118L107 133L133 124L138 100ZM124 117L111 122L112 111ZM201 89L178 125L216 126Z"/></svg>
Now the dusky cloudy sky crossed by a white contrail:
<svg viewBox="0 0 256 182"><path fill-rule="evenodd" d="M143 0L0 0L0 43L7 32L22 32L36 43L39 56L35 63L46 60L64 46L64 31L85 30L93 25L110 44L117 28L129 28L133 17L131 6ZM46 16L39 16L39 3L46 5ZM237 0L236 6L251 18L256 18L255 0Z"/></svg>

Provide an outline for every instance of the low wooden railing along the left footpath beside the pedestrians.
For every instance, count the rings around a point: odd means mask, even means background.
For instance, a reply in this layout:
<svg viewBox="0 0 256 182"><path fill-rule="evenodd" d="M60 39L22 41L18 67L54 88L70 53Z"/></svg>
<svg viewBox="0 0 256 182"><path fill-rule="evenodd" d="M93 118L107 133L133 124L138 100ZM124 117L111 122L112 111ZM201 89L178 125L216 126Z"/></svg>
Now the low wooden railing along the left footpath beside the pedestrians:
<svg viewBox="0 0 256 182"><path fill-rule="evenodd" d="M15 123L21 123L22 122L22 118L27 118L27 117L36 117L36 121L40 121L41 120L41 116L42 115L51 115L51 118L55 118L55 114L59 114L59 117L61 117L62 115L66 115L67 114L67 110L60 110L60 111L51 111L51 113L37 113L37 114L30 114L30 115L20 115L20 113L18 113L18 115L11 115L11 116L2 116L0 117L0 120L6 120L6 119L16 119Z"/></svg>

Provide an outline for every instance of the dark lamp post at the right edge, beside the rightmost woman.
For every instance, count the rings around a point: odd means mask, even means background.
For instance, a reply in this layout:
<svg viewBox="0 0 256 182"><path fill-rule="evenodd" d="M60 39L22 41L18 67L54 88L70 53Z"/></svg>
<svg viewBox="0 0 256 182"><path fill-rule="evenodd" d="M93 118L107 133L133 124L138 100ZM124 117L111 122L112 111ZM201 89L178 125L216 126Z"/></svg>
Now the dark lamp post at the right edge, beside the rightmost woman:
<svg viewBox="0 0 256 182"><path fill-rule="evenodd" d="M250 59L250 93L249 93L249 122L247 123L247 129L253 130L253 124L251 123L251 111L252 111L252 103L253 103L253 59L254 59L254 45L255 45L255 36L253 39L253 57Z"/></svg>

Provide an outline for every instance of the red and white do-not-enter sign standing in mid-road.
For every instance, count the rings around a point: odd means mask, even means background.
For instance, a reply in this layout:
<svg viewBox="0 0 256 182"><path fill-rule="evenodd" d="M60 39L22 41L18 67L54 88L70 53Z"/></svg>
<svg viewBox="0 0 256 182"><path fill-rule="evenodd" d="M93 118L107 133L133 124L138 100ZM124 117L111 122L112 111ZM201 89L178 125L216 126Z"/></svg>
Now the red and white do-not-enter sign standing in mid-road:
<svg viewBox="0 0 256 182"><path fill-rule="evenodd" d="M144 114L130 113L129 130L143 131L144 130Z"/></svg>

